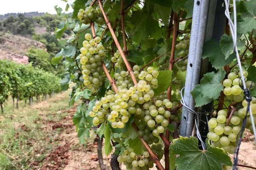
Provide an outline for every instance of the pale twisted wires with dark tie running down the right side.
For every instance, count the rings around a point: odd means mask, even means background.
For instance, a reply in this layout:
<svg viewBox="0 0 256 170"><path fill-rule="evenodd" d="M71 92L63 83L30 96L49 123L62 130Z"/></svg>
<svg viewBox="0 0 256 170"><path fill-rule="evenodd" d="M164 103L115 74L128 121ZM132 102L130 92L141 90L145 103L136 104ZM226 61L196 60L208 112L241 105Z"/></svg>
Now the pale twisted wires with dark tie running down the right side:
<svg viewBox="0 0 256 170"><path fill-rule="evenodd" d="M232 22L231 18L230 18L230 11L229 11L229 5L230 5L230 1L229 0L224 0L225 2L225 15L227 17L227 20L229 22L229 26L230 26L230 32L231 32L231 36L233 39L233 50L236 53L236 58L237 58L237 62L238 62L238 66L239 66L239 71L241 73L241 81L242 81L242 88L244 90L244 95L245 95L245 100L247 101L247 109L246 109L246 115L244 117L244 121L242 124L242 128L240 130L240 140L237 140L238 146L236 147L236 151L234 154L234 164L233 164L233 170L236 170L237 167L236 165L238 164L238 155L239 155L239 148L240 148L240 144L241 144L241 139L242 139L242 134L244 132L245 129L245 123L246 123L246 118L247 118L247 114L248 112L250 113L250 119L251 119L251 124L253 127L253 134L254 134L254 138L255 138L255 142L256 142L256 130L255 130L255 125L254 125L254 121L253 121L253 114L250 108L250 101L251 96L250 96L250 91L248 90L248 88L246 87L245 84L245 80L244 80L244 75L243 75L243 70L242 70L242 66L241 66L241 61L239 58L239 53L238 53L238 49L237 49L237 32L236 32L236 0L233 0L233 17L234 17L234 23Z"/></svg>

